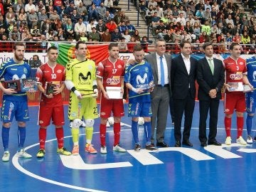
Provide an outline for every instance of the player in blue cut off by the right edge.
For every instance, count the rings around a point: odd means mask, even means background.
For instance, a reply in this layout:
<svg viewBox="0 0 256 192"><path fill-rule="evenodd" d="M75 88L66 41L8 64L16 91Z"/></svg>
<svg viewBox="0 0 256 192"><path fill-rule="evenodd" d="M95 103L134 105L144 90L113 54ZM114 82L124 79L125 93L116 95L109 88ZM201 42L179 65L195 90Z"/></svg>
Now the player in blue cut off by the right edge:
<svg viewBox="0 0 256 192"><path fill-rule="evenodd" d="M253 87L256 87L256 55L252 58L247 58L247 78ZM255 114L256 107L256 90L246 93L246 126L247 126L247 143L252 144L252 120ZM256 141L256 136L254 138Z"/></svg>

